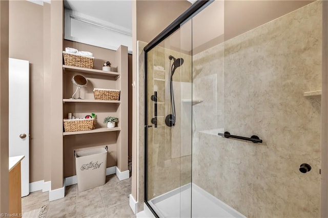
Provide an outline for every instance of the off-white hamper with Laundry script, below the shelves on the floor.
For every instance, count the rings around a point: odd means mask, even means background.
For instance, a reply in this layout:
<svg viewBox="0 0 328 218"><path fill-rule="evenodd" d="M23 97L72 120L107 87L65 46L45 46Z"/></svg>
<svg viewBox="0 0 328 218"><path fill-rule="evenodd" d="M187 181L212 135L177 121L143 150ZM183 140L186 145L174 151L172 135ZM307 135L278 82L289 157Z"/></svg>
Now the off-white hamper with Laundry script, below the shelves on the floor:
<svg viewBox="0 0 328 218"><path fill-rule="evenodd" d="M106 182L107 150L103 147L75 152L78 191L85 191Z"/></svg>

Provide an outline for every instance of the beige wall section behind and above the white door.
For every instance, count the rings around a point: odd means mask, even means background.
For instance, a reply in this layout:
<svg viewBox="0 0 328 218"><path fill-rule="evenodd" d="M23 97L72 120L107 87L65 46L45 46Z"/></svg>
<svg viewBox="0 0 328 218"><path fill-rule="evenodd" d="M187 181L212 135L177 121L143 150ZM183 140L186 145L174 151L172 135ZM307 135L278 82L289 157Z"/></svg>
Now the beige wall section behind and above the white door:
<svg viewBox="0 0 328 218"><path fill-rule="evenodd" d="M9 2L9 57L30 62L30 182L44 179L43 10L27 1Z"/></svg>

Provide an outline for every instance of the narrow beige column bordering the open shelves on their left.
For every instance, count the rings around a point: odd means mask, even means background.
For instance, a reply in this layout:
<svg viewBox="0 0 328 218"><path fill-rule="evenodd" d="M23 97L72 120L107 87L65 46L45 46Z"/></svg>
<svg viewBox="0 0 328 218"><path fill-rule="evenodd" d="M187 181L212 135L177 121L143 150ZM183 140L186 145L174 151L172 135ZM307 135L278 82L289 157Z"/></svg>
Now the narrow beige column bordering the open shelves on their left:
<svg viewBox="0 0 328 218"><path fill-rule="evenodd" d="M50 7L51 68L51 190L63 187L63 1L52 1Z"/></svg>

